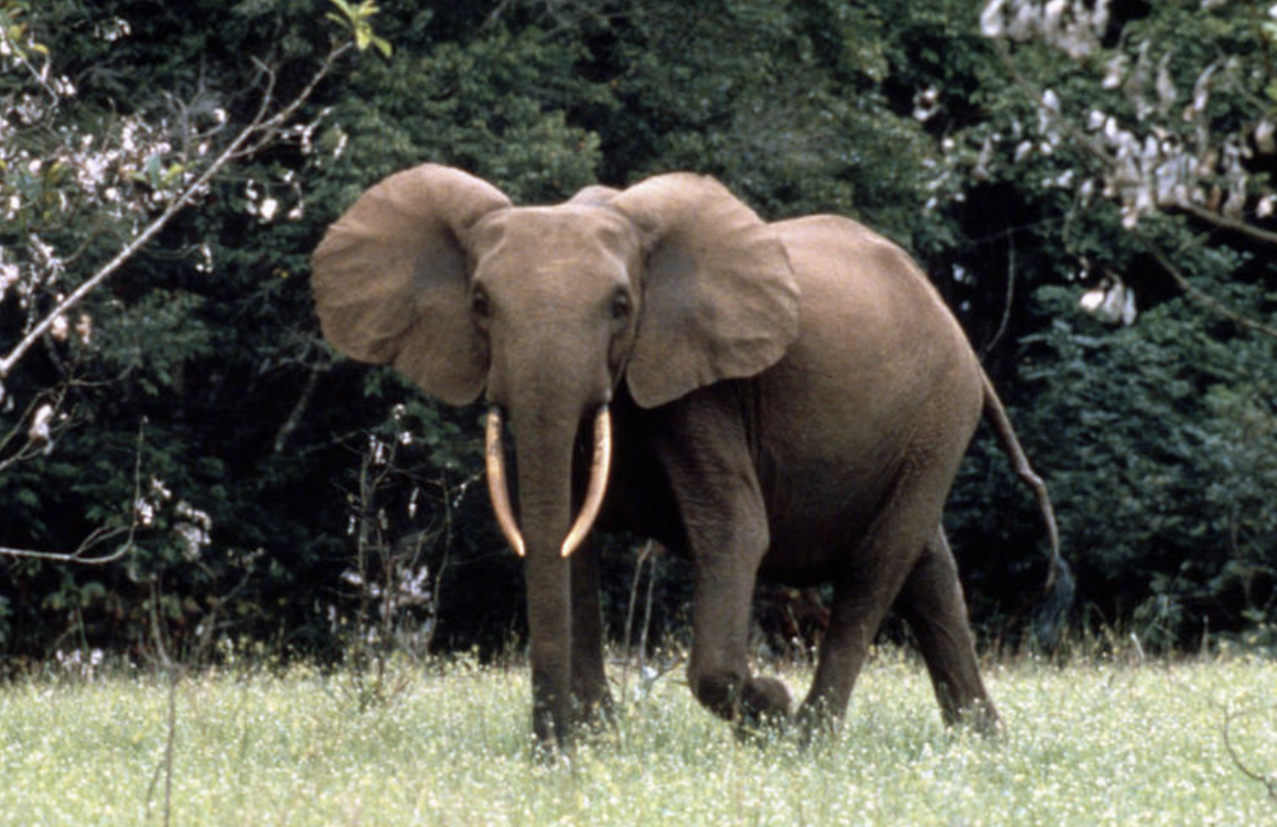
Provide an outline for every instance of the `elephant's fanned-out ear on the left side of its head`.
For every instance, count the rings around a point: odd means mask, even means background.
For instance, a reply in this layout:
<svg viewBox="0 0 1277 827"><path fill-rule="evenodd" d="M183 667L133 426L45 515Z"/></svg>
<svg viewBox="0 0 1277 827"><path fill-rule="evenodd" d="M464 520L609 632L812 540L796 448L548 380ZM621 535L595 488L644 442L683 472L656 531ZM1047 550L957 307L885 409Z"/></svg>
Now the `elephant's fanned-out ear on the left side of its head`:
<svg viewBox="0 0 1277 827"><path fill-rule="evenodd" d="M487 356L470 320L466 235L507 207L490 184L433 163L369 189L312 257L324 337L352 359L395 365L450 405L474 402Z"/></svg>

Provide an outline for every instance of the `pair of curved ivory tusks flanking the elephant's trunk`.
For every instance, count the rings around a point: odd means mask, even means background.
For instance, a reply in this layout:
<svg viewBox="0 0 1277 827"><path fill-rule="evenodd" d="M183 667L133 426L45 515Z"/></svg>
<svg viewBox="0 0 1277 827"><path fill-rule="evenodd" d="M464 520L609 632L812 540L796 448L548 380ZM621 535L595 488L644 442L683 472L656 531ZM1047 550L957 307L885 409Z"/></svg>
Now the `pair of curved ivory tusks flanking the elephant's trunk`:
<svg viewBox="0 0 1277 827"><path fill-rule="evenodd" d="M501 407L493 405L488 408L488 425L484 438L484 466L488 475L488 498L492 500L492 509L497 516L497 525L506 535L506 541L518 556L526 556L527 544L518 530L515 519L515 509L510 504L510 486L506 477L506 449L502 440L504 424L502 421ZM608 473L612 470L612 415L607 405L600 405L594 415L594 453L590 461L590 482L585 489L585 503L581 513L572 522L572 527L563 539L559 548L562 556L571 556L580 548L585 536L590 533L594 521L603 508L603 495L608 490Z"/></svg>

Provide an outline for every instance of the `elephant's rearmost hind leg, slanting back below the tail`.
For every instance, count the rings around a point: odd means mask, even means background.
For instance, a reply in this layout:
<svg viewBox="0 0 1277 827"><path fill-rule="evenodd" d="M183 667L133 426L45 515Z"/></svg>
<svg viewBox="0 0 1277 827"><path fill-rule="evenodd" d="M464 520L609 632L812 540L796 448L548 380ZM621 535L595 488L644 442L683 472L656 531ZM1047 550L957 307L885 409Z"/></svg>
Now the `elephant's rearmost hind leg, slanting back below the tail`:
<svg viewBox="0 0 1277 827"><path fill-rule="evenodd" d="M962 582L944 528L937 526L927 541L896 609L917 638L945 722L997 731L997 711L979 678Z"/></svg>

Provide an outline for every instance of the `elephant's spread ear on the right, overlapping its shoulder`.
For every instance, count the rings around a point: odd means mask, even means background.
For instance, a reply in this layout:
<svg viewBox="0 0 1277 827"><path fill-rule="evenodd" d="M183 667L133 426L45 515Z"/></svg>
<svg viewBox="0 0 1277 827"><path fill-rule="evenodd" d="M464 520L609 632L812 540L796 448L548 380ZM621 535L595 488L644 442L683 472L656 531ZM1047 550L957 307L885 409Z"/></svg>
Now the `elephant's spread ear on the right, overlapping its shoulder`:
<svg viewBox="0 0 1277 827"><path fill-rule="evenodd" d="M776 234L710 177L674 172L610 205L638 227L644 310L626 371L655 407L770 368L798 337L798 283Z"/></svg>

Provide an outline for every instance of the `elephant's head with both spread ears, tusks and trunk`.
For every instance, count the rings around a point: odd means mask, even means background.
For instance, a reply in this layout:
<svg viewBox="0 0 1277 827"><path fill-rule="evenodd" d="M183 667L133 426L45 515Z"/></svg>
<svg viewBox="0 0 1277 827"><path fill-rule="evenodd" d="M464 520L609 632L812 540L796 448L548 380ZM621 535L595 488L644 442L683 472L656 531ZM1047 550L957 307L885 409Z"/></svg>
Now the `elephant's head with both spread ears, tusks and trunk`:
<svg viewBox="0 0 1277 827"><path fill-rule="evenodd" d="M313 265L323 333L338 350L392 364L444 402L489 405L489 491L527 558L538 733L559 730L571 636L563 558L604 496L613 393L623 382L654 407L775 364L798 333L784 246L707 177L660 175L515 207L466 172L425 165L369 189L328 228ZM518 461L517 523L502 412ZM582 420L595 422L595 465L573 521Z"/></svg>

